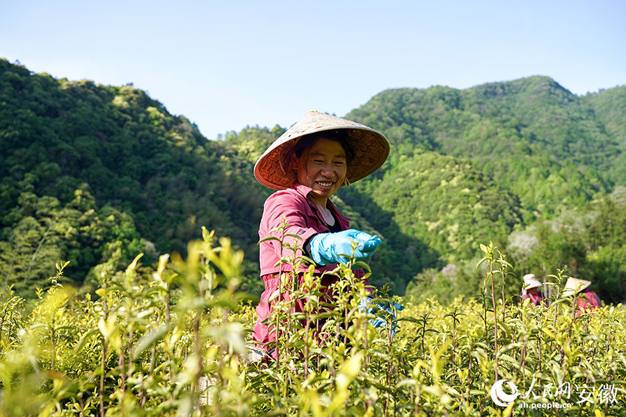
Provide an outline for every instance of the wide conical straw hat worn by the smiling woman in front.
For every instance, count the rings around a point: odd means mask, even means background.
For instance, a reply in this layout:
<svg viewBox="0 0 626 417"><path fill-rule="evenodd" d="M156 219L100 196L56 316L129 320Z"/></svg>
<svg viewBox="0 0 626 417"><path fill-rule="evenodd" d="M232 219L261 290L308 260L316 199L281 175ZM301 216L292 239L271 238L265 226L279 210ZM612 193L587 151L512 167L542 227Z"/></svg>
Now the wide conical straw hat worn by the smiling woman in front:
<svg viewBox="0 0 626 417"><path fill-rule="evenodd" d="M367 177L385 163L390 145L383 133L351 120L310 111L268 147L255 164L255 178L272 190L291 187L298 177L295 167L286 163L284 156L294 149L302 136L335 129L349 129L348 143L354 150L354 158L346 173L349 182Z"/></svg>

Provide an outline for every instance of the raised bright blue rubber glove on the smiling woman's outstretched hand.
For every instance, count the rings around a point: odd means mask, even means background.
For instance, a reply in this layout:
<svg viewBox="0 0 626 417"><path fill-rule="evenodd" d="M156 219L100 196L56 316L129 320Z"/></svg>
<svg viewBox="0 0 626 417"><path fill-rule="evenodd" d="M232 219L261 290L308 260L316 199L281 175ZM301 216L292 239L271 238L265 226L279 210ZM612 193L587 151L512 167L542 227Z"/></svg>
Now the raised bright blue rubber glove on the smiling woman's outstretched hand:
<svg viewBox="0 0 626 417"><path fill-rule="evenodd" d="M354 260L369 262L380 245L380 238L356 229L337 233L316 234L309 241L313 261L317 265L342 263L346 265L352 256L352 242L358 243L354 251Z"/></svg>

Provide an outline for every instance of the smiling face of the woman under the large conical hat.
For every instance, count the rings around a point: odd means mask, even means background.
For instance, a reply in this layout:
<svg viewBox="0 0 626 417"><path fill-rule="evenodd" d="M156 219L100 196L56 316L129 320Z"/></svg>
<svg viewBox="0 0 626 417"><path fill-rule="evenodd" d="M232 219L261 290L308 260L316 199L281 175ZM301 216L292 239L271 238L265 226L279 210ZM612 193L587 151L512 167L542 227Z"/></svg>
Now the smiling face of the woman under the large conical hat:
<svg viewBox="0 0 626 417"><path fill-rule="evenodd" d="M320 138L309 154L298 161L298 182L312 188L310 197L326 206L326 199L335 194L344 183L348 170L346 151L335 142Z"/></svg>

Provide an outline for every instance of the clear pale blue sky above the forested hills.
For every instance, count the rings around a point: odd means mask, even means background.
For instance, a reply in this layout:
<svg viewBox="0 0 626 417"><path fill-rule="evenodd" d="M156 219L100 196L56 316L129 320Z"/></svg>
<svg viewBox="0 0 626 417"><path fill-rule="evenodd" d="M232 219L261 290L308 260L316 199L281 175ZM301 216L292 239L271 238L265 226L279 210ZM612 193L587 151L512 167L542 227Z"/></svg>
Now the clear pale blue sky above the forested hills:
<svg viewBox="0 0 626 417"><path fill-rule="evenodd" d="M0 58L134 83L207 138L343 116L388 88L626 84L626 1L0 0Z"/></svg>

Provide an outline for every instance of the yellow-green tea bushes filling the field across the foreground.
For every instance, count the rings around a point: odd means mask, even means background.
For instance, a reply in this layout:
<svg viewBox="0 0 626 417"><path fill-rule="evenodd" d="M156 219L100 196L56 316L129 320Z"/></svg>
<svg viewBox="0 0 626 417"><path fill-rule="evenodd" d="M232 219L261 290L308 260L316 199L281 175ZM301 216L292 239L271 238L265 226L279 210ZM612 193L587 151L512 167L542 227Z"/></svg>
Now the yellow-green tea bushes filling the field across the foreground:
<svg viewBox="0 0 626 417"><path fill-rule="evenodd" d="M285 275L268 319L278 360L250 361L256 315L237 291L243 254L216 243L203 229L187 259L163 255L152 275L141 256L123 272L102 265L97 297L61 284L67 263L32 309L4 297L0 415L626 416L626 312L577 317L572 297L559 298L563 271L549 306L517 304L501 291L511 265L481 245L478 297L442 306L377 291L395 327L385 309L360 309L368 289L352 265L337 270L332 301L312 270L302 286ZM387 325L373 327L375 316ZM492 391L504 380L517 396L501 391L499 406Z"/></svg>

